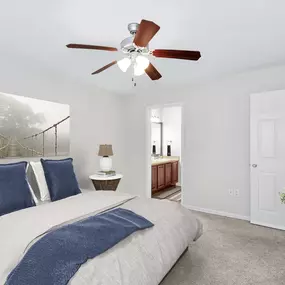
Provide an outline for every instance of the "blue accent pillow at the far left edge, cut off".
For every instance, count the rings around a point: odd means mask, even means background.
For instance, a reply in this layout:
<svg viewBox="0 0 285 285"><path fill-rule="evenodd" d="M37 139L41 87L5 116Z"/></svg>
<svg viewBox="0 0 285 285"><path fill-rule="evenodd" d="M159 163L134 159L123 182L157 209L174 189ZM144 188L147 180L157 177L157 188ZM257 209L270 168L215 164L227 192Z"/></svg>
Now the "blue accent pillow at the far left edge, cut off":
<svg viewBox="0 0 285 285"><path fill-rule="evenodd" d="M0 216L35 206L26 168L25 161L0 164Z"/></svg>

